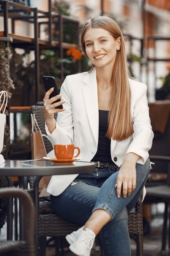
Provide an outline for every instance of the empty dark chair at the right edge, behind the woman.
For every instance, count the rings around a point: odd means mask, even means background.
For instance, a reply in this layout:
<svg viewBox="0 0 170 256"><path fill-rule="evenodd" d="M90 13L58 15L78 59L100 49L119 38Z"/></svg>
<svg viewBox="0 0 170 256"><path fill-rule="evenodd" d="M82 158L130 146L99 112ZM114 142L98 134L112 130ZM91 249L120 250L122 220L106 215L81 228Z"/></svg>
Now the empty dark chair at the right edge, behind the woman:
<svg viewBox="0 0 170 256"><path fill-rule="evenodd" d="M147 193L144 203L165 203L161 246L161 255L165 255L168 208L170 205L170 116L168 118L168 123L166 125L164 133L161 136L155 135L152 143L152 148L149 151L149 154L150 160L155 162L155 165L152 166L152 169L150 170L150 175L148 177L148 181L146 182Z"/></svg>

